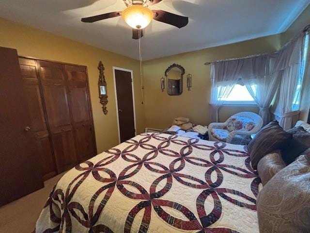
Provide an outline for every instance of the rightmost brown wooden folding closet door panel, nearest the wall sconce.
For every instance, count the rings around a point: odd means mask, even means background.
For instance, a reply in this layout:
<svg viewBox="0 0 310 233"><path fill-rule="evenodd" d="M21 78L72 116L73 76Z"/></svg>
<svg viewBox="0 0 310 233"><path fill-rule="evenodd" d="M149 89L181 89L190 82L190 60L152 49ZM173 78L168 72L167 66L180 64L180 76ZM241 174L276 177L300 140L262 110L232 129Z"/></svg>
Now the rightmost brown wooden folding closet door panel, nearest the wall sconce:
<svg viewBox="0 0 310 233"><path fill-rule="evenodd" d="M65 66L79 162L97 154L85 67Z"/></svg>

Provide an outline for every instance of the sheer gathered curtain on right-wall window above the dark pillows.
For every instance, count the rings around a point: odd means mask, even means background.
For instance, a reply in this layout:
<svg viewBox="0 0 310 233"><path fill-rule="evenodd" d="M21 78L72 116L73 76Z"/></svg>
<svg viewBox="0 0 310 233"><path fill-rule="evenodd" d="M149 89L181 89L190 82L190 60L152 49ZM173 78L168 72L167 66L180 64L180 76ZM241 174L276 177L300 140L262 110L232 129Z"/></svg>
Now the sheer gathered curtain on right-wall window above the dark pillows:
<svg viewBox="0 0 310 233"><path fill-rule="evenodd" d="M298 81L303 76L304 41L305 33L302 33L279 50L272 72L274 78L280 80L279 101L274 114L284 130L292 128L299 116L299 108L294 109L293 102Z"/></svg>

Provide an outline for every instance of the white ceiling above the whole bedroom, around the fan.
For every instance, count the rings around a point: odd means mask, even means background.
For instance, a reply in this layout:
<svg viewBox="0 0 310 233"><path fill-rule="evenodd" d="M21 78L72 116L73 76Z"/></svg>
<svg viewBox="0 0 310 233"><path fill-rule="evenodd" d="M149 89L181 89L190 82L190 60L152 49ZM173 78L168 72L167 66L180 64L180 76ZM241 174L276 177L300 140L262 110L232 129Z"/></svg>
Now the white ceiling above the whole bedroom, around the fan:
<svg viewBox="0 0 310 233"><path fill-rule="evenodd" d="M145 29L143 59L169 56L284 32L310 0L163 0L151 6L188 16L182 29L154 21ZM82 23L124 10L123 0L0 0L0 17L139 58L138 41L122 17Z"/></svg>

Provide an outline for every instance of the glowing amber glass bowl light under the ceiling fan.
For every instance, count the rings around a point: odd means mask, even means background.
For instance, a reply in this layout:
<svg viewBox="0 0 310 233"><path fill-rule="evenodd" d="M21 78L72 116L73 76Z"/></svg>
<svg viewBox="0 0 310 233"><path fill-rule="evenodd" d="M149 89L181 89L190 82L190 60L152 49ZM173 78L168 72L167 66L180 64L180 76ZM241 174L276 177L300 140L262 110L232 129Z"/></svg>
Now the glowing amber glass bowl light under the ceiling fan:
<svg viewBox="0 0 310 233"><path fill-rule="evenodd" d="M133 5L123 11L122 17L130 27L143 29L151 23L154 13L145 6Z"/></svg>

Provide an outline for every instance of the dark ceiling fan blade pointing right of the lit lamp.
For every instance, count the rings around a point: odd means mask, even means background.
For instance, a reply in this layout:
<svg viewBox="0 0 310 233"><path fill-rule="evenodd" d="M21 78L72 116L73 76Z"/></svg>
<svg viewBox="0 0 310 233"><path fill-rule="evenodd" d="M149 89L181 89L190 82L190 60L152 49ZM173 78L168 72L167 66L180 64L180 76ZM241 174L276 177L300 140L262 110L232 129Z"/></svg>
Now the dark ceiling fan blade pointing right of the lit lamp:
<svg viewBox="0 0 310 233"><path fill-rule="evenodd" d="M168 23L178 28L183 28L188 24L188 17L178 16L167 11L152 10L155 13L154 19L163 23Z"/></svg>

